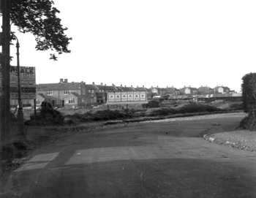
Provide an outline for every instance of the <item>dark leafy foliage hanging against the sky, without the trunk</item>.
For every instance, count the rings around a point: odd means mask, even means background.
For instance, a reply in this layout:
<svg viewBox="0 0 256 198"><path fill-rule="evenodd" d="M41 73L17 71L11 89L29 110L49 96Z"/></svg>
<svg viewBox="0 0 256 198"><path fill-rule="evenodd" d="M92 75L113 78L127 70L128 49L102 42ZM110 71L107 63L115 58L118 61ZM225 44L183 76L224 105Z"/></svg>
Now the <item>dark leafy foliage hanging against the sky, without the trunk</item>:
<svg viewBox="0 0 256 198"><path fill-rule="evenodd" d="M18 26L21 33L30 32L37 42L37 50L55 50L58 54L70 53L69 41L61 19L56 16L60 11L53 7L51 0L10 0L10 20ZM14 39L12 37L12 39ZM50 59L57 60L55 53Z"/></svg>

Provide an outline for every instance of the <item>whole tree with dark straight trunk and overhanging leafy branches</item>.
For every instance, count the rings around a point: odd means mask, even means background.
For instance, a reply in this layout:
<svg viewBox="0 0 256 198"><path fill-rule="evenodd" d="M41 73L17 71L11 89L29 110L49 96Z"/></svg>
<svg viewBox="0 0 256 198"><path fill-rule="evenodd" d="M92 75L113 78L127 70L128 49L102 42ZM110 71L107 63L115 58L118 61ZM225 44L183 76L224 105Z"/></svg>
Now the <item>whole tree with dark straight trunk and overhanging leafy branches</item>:
<svg viewBox="0 0 256 198"><path fill-rule="evenodd" d="M0 38L0 139L5 141L10 133L10 42L15 39L10 26L18 26L18 31L22 33L33 34L37 50L55 50L58 54L70 53L67 47L72 38L64 34L67 28L61 25L61 19L56 16L59 10L53 7L51 0L0 0L0 4L3 20ZM50 59L57 60L55 53L50 53Z"/></svg>

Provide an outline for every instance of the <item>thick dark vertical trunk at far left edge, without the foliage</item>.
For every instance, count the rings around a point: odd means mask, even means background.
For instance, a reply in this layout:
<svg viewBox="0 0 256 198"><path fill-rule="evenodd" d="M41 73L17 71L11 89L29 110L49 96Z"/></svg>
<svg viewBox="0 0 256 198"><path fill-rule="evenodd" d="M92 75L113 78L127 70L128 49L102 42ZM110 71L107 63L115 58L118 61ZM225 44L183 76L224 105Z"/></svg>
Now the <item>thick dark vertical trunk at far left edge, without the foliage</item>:
<svg viewBox="0 0 256 198"><path fill-rule="evenodd" d="M10 140L10 0L1 0L1 142Z"/></svg>

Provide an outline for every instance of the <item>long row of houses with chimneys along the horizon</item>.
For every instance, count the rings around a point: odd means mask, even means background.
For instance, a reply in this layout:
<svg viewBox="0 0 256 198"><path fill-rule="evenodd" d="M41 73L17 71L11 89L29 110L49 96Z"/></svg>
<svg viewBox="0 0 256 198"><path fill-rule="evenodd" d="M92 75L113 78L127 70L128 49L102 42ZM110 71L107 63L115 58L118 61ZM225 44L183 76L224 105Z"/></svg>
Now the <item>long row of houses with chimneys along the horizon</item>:
<svg viewBox="0 0 256 198"><path fill-rule="evenodd" d="M184 86L184 88L166 87L159 88L151 86L146 88L142 87L127 87L126 85L103 85L103 83L91 84L80 82L68 82L68 79L61 78L59 83L45 83L37 85L37 99L36 105L39 107L42 101L48 100L53 104L53 107L91 107L91 105L104 104L107 101L107 93L112 91L146 91L148 99L154 96L173 96L173 95L195 95L195 94L229 94L230 88L225 86L218 86L209 88L208 86L201 86L200 88L192 88ZM16 103L17 102L12 102ZM33 105L33 101L23 102Z"/></svg>

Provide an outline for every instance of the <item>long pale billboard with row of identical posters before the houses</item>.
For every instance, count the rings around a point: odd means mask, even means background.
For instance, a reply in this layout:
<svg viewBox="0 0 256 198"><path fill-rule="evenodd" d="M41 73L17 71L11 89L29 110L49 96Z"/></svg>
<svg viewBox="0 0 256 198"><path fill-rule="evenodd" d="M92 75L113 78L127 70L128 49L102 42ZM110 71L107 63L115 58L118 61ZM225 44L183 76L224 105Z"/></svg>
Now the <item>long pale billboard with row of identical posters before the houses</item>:
<svg viewBox="0 0 256 198"><path fill-rule="evenodd" d="M146 91L108 92L107 104L147 104Z"/></svg>

